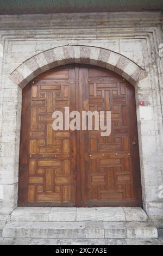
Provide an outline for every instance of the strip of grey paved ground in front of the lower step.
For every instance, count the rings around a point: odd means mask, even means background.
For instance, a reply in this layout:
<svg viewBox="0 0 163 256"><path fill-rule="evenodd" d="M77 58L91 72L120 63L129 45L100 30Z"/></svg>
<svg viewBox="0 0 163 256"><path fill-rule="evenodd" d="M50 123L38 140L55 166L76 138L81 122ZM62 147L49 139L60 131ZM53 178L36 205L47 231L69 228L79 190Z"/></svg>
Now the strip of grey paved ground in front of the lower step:
<svg viewBox="0 0 163 256"><path fill-rule="evenodd" d="M3 239L0 245L163 245L159 239Z"/></svg>

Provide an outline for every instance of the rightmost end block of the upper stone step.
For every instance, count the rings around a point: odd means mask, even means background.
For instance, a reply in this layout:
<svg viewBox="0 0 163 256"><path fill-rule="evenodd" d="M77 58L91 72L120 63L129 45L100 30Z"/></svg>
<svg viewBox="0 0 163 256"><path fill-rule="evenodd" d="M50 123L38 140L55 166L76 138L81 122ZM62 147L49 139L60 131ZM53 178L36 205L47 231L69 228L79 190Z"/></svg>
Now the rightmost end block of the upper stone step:
<svg viewBox="0 0 163 256"><path fill-rule="evenodd" d="M126 221L147 221L146 212L140 207L124 207Z"/></svg>

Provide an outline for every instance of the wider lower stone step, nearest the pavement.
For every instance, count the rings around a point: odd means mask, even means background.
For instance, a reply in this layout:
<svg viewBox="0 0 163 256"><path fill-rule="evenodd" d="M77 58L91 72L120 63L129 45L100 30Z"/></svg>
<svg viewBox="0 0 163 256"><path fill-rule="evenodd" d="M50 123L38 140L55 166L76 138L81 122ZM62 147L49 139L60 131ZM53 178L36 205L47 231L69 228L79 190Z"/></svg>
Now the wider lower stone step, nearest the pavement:
<svg viewBox="0 0 163 256"><path fill-rule="evenodd" d="M2 236L46 239L147 239L157 238L158 231L150 221L146 222L17 222L5 225Z"/></svg>

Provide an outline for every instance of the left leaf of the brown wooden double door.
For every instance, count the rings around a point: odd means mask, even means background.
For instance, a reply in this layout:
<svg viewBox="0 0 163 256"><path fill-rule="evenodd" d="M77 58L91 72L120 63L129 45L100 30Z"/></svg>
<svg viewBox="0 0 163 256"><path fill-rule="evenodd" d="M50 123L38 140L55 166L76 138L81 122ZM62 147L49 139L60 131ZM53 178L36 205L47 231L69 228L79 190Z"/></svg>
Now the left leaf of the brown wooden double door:
<svg viewBox="0 0 163 256"><path fill-rule="evenodd" d="M40 75L23 91L19 205L74 205L70 131L52 129L53 112L64 113L72 90L74 68L67 66Z"/></svg>

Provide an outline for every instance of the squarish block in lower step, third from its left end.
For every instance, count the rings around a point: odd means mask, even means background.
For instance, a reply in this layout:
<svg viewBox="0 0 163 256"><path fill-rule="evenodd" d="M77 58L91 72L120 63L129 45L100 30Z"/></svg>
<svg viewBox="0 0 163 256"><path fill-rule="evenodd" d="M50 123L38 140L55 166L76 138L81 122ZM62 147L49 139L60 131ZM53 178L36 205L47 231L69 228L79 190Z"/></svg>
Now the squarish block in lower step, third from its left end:
<svg viewBox="0 0 163 256"><path fill-rule="evenodd" d="M104 225L102 221L87 221L85 222L85 237L86 238L103 238Z"/></svg>

